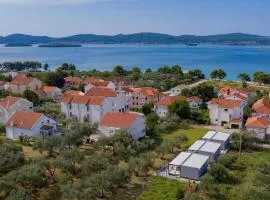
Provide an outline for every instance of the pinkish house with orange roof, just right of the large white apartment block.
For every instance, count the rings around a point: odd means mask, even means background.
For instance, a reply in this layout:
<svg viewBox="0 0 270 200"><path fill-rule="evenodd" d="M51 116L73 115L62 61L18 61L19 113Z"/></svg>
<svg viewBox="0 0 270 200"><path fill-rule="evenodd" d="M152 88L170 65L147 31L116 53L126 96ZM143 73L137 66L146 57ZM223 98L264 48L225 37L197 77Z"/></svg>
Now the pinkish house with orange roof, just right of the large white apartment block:
<svg viewBox="0 0 270 200"><path fill-rule="evenodd" d="M152 87L141 87L131 88L133 90L130 98L130 108L142 108L143 105L150 102L158 102L160 99L160 92L156 88Z"/></svg>

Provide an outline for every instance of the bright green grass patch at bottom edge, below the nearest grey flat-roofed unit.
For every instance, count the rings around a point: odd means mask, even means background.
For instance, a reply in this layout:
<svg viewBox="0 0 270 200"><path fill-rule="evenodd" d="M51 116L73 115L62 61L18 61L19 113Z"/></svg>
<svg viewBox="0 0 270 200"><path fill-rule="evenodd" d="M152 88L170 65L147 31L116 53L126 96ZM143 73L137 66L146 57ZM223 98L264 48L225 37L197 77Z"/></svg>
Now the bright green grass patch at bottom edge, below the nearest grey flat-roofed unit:
<svg viewBox="0 0 270 200"><path fill-rule="evenodd" d="M152 183L138 200L177 200L184 194L186 183L153 177Z"/></svg>

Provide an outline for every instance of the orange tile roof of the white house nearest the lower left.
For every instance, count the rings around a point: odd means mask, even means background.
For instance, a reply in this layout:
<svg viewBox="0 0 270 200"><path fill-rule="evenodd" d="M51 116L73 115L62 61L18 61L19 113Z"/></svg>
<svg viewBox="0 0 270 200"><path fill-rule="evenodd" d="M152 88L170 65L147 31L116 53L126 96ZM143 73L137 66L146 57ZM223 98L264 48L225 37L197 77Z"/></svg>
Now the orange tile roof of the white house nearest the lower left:
<svg viewBox="0 0 270 200"><path fill-rule="evenodd" d="M32 129L34 125L40 120L42 113L30 111L17 111L6 123L7 127L16 126L22 129Z"/></svg>

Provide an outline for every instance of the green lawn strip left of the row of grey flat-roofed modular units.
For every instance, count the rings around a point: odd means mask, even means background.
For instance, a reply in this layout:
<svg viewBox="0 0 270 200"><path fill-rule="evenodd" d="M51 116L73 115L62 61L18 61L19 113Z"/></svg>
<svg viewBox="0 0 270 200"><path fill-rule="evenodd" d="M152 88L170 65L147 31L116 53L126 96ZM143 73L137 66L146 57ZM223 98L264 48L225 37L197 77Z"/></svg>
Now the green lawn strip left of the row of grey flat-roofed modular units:
<svg viewBox="0 0 270 200"><path fill-rule="evenodd" d="M186 135L188 138L188 141L184 144L185 147L190 146L192 143L194 143L196 140L202 138L208 129L205 128L185 128L185 129L178 129L177 131L169 134L164 134L162 136L163 139L173 141L176 137L180 135Z"/></svg>

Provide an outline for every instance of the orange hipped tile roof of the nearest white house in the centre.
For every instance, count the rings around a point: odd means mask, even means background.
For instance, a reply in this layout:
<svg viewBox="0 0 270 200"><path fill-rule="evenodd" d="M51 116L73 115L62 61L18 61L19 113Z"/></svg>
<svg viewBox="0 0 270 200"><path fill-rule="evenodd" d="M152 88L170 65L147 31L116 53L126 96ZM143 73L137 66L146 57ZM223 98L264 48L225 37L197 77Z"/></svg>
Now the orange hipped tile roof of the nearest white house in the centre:
<svg viewBox="0 0 270 200"><path fill-rule="evenodd" d="M103 126L127 129L132 126L138 116L140 114L135 112L110 112L103 116L99 123Z"/></svg>

